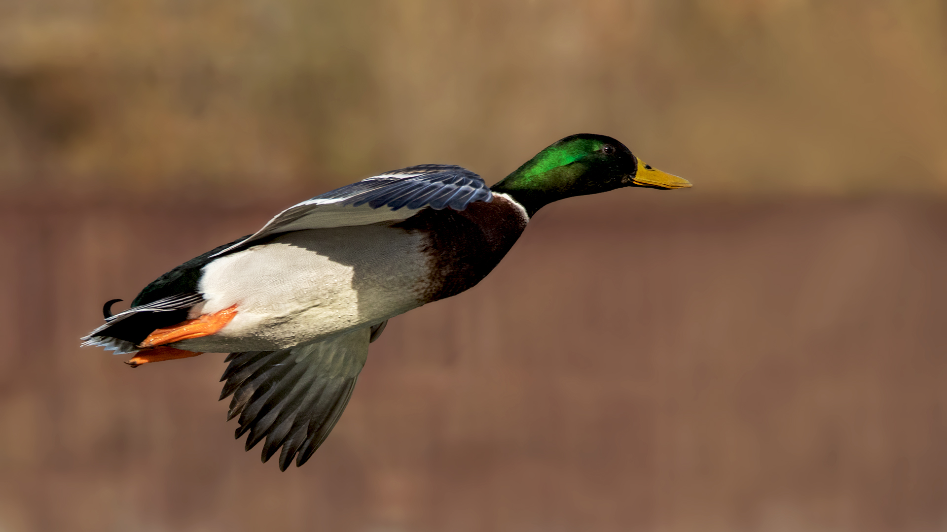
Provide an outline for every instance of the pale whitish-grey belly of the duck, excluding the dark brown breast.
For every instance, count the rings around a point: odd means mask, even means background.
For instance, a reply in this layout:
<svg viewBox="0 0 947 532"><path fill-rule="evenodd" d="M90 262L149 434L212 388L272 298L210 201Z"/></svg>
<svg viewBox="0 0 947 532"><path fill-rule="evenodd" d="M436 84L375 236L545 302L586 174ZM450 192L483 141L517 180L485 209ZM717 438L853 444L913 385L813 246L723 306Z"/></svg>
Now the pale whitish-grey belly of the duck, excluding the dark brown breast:
<svg viewBox="0 0 947 532"><path fill-rule="evenodd" d="M198 285L207 314L237 305L195 351L282 349L363 328L421 304L424 237L389 222L310 229L218 258Z"/></svg>

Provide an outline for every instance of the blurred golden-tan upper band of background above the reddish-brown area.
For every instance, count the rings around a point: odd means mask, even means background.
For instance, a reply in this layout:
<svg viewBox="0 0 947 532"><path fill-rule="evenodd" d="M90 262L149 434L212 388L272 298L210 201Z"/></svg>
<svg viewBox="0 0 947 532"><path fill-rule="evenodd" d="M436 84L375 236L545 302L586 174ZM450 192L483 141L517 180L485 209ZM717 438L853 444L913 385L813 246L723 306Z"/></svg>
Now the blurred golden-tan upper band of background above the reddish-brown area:
<svg viewBox="0 0 947 532"><path fill-rule="evenodd" d="M5 187L488 182L607 133L706 191L947 189L938 0L0 3Z"/></svg>

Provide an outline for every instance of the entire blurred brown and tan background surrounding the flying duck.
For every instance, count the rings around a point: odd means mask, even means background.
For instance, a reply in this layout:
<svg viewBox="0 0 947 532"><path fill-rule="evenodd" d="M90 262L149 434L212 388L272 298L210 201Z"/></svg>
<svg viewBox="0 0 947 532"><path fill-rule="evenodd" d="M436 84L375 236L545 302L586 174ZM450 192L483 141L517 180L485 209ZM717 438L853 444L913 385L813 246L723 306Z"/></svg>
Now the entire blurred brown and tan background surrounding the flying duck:
<svg viewBox="0 0 947 532"><path fill-rule="evenodd" d="M940 0L0 0L0 531L947 529L945 90ZM300 199L571 133L695 187L546 207L301 469L223 355L78 347Z"/></svg>

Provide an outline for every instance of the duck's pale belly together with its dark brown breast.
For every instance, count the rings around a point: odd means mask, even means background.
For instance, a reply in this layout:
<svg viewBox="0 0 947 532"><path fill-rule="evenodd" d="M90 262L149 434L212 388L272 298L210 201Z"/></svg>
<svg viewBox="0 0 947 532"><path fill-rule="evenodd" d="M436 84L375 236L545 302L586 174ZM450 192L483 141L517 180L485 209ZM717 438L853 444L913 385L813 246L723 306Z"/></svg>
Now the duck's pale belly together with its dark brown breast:
<svg viewBox="0 0 947 532"><path fill-rule="evenodd" d="M217 334L179 346L287 348L377 324L473 287L527 221L522 207L494 195L462 211L423 209L403 222L278 235L204 267L200 313L240 311Z"/></svg>

